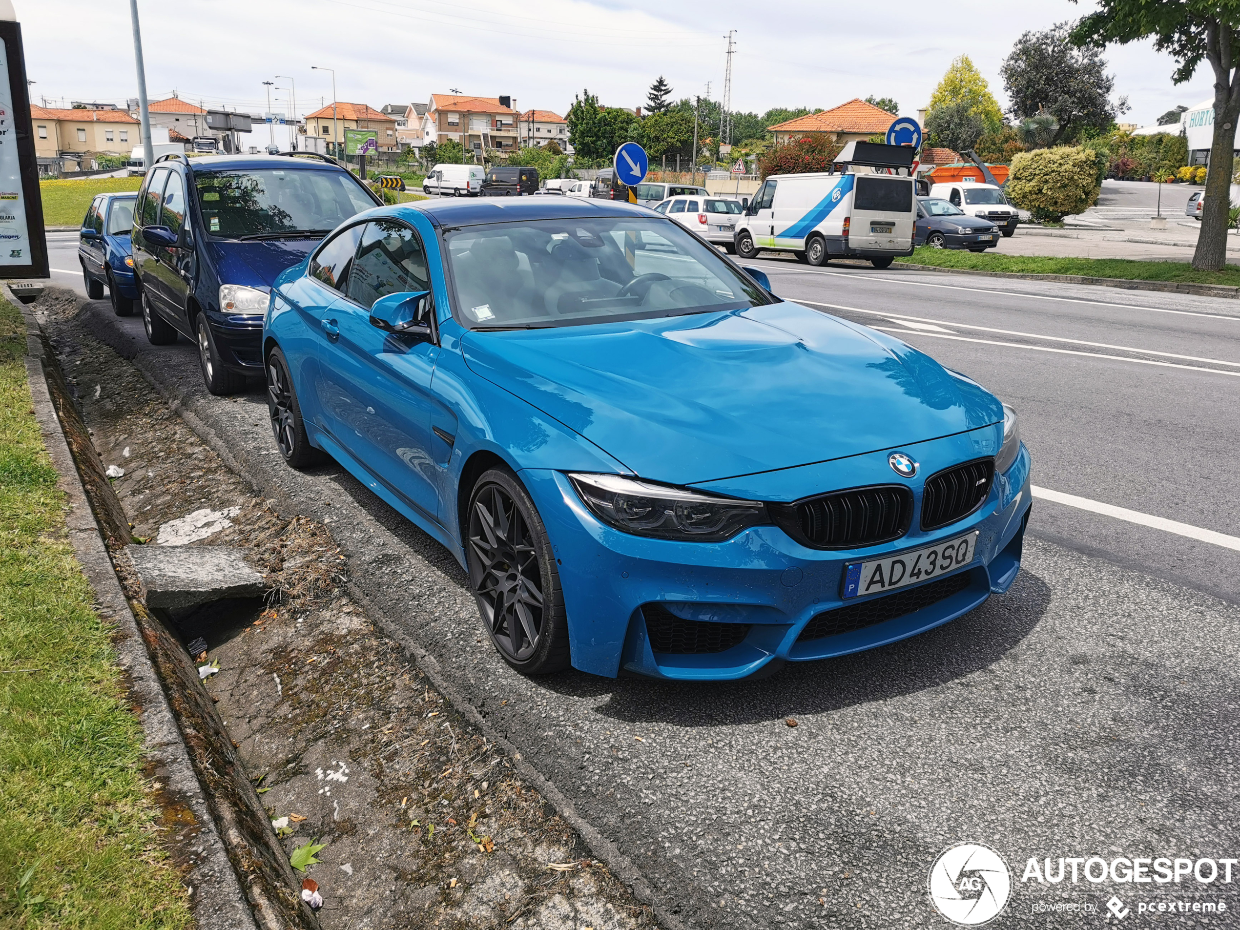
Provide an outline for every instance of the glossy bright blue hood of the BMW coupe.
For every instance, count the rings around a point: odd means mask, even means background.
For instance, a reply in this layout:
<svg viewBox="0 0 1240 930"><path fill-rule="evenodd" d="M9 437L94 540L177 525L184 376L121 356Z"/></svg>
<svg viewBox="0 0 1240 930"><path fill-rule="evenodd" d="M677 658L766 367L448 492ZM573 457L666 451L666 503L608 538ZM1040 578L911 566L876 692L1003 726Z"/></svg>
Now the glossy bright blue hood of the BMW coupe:
<svg viewBox="0 0 1240 930"><path fill-rule="evenodd" d="M471 370L634 472L673 484L889 449L1003 419L899 340L789 301L733 312L469 332Z"/></svg>

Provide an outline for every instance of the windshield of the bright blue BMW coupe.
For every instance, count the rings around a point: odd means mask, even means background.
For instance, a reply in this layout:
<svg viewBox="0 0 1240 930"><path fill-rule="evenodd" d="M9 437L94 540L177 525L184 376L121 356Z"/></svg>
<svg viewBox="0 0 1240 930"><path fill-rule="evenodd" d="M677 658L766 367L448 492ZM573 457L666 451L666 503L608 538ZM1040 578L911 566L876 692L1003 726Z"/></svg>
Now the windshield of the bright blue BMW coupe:
<svg viewBox="0 0 1240 930"><path fill-rule="evenodd" d="M546 329L740 310L774 303L667 219L615 217L472 226L444 234L456 320Z"/></svg>

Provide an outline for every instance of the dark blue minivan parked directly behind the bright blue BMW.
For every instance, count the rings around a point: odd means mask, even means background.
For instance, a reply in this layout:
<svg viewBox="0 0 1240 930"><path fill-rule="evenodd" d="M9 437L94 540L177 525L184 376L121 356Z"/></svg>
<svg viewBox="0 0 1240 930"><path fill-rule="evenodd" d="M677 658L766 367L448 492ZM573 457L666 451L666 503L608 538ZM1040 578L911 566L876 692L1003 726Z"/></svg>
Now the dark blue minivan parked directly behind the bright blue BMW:
<svg viewBox="0 0 1240 930"><path fill-rule="evenodd" d="M379 200L322 155L165 156L146 174L133 250L146 339L198 346L207 389L262 376L277 275Z"/></svg>

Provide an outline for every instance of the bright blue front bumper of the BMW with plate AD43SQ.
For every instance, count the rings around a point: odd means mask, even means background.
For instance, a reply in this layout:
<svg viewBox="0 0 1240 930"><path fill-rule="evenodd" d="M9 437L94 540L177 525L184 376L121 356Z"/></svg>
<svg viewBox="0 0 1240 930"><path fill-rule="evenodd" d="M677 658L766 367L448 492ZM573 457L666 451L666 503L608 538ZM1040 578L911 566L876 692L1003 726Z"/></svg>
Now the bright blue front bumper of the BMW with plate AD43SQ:
<svg viewBox="0 0 1240 930"><path fill-rule="evenodd" d="M926 465L925 475L940 467L934 464L936 451L940 460L951 455L947 448L951 439L914 446L919 450L919 460ZM937 450L925 446L937 446ZM873 455L885 467L887 453ZM942 466L963 459L945 460ZM986 502L968 517L932 532L921 532L914 520L913 529L892 543L820 551L796 543L774 526L753 527L722 543L631 536L600 523L562 472L525 470L521 477L556 551L573 665L611 677L625 668L657 678L743 678L773 661L846 655L945 624L977 608L992 593L1006 591L1012 585L1021 565L1030 501L1029 454L1022 446L1017 461L1004 475L996 476ZM883 476L874 484L888 481ZM805 495L781 498L801 496ZM920 506L918 482L915 512ZM973 529L980 533L973 560L959 572L942 575L945 579L967 575L967 585L961 582L947 596L920 609L913 608L913 613L905 615L848 632L801 639L815 618L846 605L841 598L846 563L931 546ZM921 587L853 598L847 605L873 604ZM658 652L652 647L647 611L658 614L662 618L658 622L671 614L702 624L694 626L696 630L707 626L718 630L715 624L748 625L748 630L729 627L723 641L734 645L720 651Z"/></svg>

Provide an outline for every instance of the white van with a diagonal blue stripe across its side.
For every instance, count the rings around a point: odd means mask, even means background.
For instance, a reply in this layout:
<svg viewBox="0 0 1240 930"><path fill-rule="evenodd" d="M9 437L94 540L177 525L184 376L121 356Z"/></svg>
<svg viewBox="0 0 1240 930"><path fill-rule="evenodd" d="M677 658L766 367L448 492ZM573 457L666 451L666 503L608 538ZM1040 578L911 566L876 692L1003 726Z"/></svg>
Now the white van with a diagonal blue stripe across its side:
<svg viewBox="0 0 1240 930"><path fill-rule="evenodd" d="M875 268L887 268L897 255L913 254L916 198L913 179L900 175L771 175L738 219L742 258L771 249L791 252L811 265L868 258Z"/></svg>

